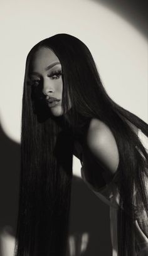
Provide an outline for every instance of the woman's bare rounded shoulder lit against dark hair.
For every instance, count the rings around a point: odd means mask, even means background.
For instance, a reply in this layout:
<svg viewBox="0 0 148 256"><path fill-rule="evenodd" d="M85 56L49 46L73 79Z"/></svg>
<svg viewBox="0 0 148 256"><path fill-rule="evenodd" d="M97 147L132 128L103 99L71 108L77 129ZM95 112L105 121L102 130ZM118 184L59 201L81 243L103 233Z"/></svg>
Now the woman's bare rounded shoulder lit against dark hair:
<svg viewBox="0 0 148 256"><path fill-rule="evenodd" d="M119 151L110 128L101 120L92 119L86 141L91 154L110 174L114 174L119 164Z"/></svg>

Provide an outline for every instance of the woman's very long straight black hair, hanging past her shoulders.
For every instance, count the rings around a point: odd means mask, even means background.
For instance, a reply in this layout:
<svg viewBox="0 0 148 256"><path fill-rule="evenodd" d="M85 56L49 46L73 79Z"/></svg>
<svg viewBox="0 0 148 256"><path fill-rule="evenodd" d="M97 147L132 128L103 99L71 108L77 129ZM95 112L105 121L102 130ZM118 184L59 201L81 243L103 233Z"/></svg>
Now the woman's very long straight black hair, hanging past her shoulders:
<svg viewBox="0 0 148 256"><path fill-rule="evenodd" d="M68 123L63 117L56 120L51 117L38 92L29 85L31 58L41 47L50 48L60 60L63 116L68 115ZM74 36L58 34L36 44L26 60L16 256L65 255L73 141L76 134L83 136L94 117L108 125L119 149L118 255L135 255L134 187L148 213L145 185L148 156L129 122L145 136L148 125L110 99L87 46Z"/></svg>

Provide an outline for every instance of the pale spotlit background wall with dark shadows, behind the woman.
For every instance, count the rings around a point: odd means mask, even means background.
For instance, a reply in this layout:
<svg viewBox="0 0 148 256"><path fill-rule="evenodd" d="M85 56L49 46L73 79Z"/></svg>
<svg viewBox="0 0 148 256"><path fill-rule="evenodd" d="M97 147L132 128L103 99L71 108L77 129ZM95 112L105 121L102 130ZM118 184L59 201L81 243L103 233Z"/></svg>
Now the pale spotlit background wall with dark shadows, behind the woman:
<svg viewBox="0 0 148 256"><path fill-rule="evenodd" d="M69 33L92 52L108 94L148 121L146 1L1 0L0 250L13 255L18 210L21 100L26 56L38 41ZM88 190L74 157L71 237L85 255L111 255L108 206ZM76 242L77 239L77 242ZM105 246L104 246L105 245ZM78 256L78 252L77 252Z"/></svg>

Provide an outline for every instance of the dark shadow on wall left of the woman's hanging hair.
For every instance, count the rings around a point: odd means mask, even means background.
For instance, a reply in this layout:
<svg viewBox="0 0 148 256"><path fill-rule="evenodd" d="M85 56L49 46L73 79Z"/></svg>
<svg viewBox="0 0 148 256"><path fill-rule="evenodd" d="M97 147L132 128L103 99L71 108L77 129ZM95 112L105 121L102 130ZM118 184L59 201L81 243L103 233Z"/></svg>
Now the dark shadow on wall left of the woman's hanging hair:
<svg viewBox="0 0 148 256"><path fill-rule="evenodd" d="M0 256L7 256L10 255L8 247L13 246L13 238L16 233L20 146L4 134L1 125L0 141Z"/></svg>

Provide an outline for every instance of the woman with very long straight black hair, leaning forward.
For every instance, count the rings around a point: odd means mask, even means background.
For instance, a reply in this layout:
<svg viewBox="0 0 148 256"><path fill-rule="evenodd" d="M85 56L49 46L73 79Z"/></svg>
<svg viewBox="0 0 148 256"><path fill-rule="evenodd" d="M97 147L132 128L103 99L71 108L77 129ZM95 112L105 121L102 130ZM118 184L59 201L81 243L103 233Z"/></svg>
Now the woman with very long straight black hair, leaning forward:
<svg viewBox="0 0 148 256"><path fill-rule="evenodd" d="M147 128L107 95L82 41L58 34L35 45L24 77L16 256L66 255L73 154L113 209L118 255L146 253Z"/></svg>

